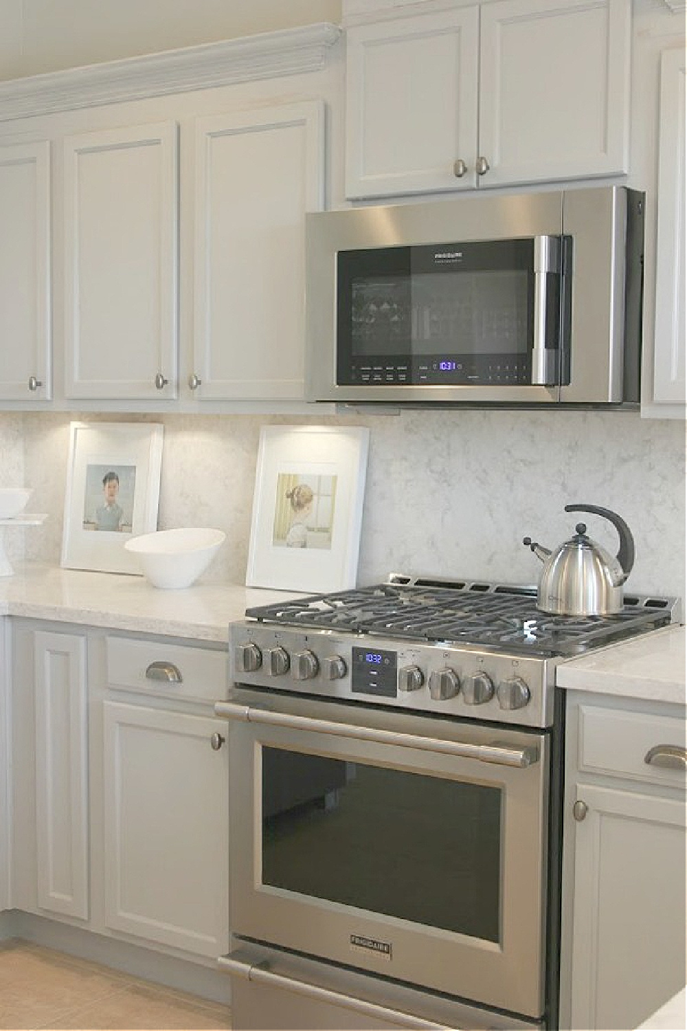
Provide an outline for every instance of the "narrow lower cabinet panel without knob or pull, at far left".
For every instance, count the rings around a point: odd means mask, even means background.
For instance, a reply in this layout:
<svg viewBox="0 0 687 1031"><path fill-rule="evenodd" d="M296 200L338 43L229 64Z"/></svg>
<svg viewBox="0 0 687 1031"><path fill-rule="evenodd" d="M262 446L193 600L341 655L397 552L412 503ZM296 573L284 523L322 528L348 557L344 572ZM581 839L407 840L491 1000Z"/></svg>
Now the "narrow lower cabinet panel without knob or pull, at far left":
<svg viewBox="0 0 687 1031"><path fill-rule="evenodd" d="M19 621L11 653L11 905L85 922L85 636Z"/></svg>

